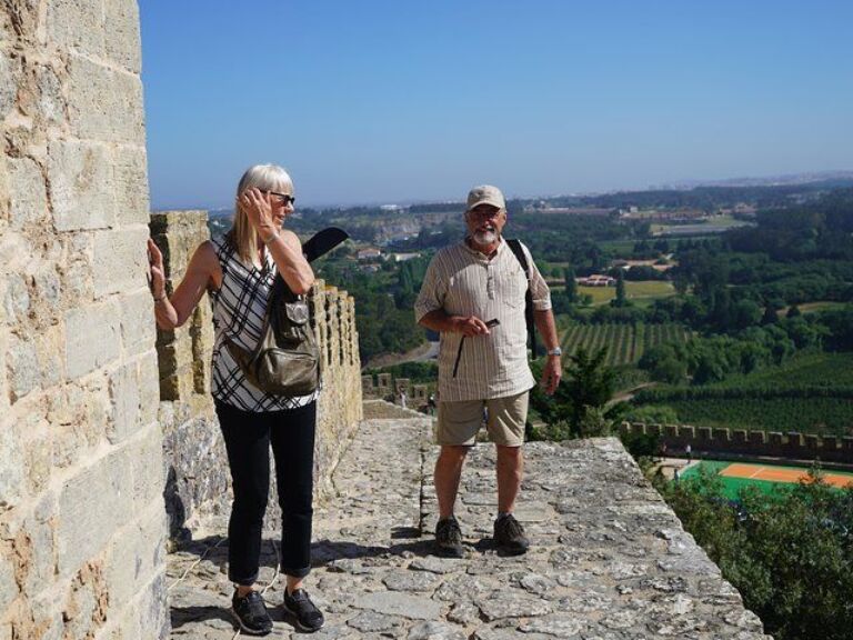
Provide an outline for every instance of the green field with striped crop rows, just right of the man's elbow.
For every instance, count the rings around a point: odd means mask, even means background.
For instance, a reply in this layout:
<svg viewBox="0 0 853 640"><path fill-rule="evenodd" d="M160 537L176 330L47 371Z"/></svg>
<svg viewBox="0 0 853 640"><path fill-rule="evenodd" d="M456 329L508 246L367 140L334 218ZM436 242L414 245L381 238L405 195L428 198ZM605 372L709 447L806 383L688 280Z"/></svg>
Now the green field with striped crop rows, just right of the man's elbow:
<svg viewBox="0 0 853 640"><path fill-rule="evenodd" d="M563 351L572 354L583 347L598 351L606 347L606 364L631 364L642 354L664 342L684 342L688 330L681 324L571 324L562 332Z"/></svg>

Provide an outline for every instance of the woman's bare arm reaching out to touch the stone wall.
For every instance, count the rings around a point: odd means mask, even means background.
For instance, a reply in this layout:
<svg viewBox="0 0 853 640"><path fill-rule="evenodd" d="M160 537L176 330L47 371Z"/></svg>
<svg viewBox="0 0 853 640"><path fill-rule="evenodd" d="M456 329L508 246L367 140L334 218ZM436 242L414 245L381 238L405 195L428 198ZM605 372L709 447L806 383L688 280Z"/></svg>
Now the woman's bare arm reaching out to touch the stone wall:
<svg viewBox="0 0 853 640"><path fill-rule="evenodd" d="M219 289L222 284L222 268L217 251L210 241L202 242L187 267L187 273L169 298L165 294L165 271L163 256L154 241L149 239L151 289L154 294L154 317L160 329L171 330L181 327L192 314L204 291L211 284Z"/></svg>

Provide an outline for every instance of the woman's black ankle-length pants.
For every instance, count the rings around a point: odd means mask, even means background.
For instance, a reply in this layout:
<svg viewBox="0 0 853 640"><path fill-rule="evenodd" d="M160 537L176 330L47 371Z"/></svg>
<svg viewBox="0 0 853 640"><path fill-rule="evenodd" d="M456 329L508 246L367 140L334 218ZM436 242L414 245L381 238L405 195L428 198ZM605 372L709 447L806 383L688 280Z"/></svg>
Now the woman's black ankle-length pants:
<svg viewBox="0 0 853 640"><path fill-rule="evenodd" d="M228 523L228 577L258 580L261 530L270 493L270 444L281 507L281 571L302 578L311 570L314 427L317 402L299 409L252 413L217 401L225 439L234 502Z"/></svg>

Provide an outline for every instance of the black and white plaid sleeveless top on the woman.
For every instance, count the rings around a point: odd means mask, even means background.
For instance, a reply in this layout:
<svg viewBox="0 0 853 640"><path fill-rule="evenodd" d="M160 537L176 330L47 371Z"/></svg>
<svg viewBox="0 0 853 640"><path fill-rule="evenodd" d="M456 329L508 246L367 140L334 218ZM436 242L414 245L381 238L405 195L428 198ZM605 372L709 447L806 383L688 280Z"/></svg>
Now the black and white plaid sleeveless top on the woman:
<svg viewBox="0 0 853 640"><path fill-rule="evenodd" d="M252 351L263 329L267 301L275 277L275 262L264 251L263 266L244 264L237 248L225 238L213 240L222 268L222 287L211 292L213 306L213 398L237 409L252 412L295 409L317 400L319 390L309 396L273 396L249 382L231 357L225 340Z"/></svg>

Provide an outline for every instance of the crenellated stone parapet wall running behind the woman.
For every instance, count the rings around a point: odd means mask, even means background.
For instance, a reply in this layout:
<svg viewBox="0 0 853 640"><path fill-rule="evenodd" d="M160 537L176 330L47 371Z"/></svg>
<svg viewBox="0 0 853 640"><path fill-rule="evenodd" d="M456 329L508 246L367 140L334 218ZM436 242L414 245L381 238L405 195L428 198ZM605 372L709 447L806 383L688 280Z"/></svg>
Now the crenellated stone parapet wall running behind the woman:
<svg viewBox="0 0 853 640"><path fill-rule="evenodd" d="M167 290L183 277L195 248L210 238L204 211L168 211L151 218L151 234L163 252ZM312 324L321 352L323 391L318 403L314 479L318 499L362 418L355 306L351 296L318 281L310 296ZM229 471L210 397L213 327L208 298L185 326L158 330L160 422L167 458L165 502L170 534L192 519L229 509ZM275 488L270 512L275 518ZM270 521L270 526L274 523Z"/></svg>

